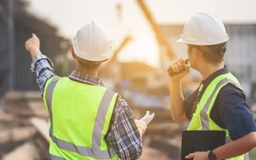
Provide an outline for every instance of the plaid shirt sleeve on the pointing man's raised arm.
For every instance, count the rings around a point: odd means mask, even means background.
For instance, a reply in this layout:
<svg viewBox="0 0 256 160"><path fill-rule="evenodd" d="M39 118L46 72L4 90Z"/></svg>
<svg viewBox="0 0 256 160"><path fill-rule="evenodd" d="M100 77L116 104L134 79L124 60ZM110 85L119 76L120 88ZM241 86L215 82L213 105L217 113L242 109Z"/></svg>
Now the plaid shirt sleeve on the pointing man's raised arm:
<svg viewBox="0 0 256 160"><path fill-rule="evenodd" d="M35 56L31 64L31 70L36 75L36 83L38 85L41 96L44 95L44 86L48 79L54 75L52 61L42 54Z"/></svg>

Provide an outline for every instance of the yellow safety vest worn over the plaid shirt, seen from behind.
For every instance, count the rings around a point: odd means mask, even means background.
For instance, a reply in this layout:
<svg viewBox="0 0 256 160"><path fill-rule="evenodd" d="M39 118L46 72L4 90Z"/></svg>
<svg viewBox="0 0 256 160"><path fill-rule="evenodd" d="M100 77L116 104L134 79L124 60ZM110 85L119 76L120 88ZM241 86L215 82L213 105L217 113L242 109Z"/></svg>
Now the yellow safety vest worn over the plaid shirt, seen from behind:
<svg viewBox="0 0 256 160"><path fill-rule="evenodd" d="M117 93L107 88L52 77L45 84L52 160L118 159L105 135Z"/></svg>

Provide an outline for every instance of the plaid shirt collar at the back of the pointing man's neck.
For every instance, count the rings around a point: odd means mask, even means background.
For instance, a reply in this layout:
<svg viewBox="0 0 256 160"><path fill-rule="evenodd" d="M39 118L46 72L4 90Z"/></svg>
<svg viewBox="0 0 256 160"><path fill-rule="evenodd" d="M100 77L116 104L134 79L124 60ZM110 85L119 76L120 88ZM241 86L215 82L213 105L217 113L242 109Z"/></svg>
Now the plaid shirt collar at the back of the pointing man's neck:
<svg viewBox="0 0 256 160"><path fill-rule="evenodd" d="M85 83L105 87L103 81L99 77L94 77L90 74L83 74L81 72L77 72L76 70L74 70L72 74L68 76L68 78L78 83Z"/></svg>

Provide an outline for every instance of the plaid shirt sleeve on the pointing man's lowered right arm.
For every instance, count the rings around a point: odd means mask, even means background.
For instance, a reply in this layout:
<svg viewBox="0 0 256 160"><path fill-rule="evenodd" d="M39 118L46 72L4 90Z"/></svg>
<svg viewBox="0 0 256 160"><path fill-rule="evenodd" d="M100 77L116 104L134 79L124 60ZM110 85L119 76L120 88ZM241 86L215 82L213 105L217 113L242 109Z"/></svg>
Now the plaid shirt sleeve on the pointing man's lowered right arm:
<svg viewBox="0 0 256 160"><path fill-rule="evenodd" d="M142 154L141 136L135 125L131 108L118 98L113 111L109 131L105 136L119 159L139 159Z"/></svg>

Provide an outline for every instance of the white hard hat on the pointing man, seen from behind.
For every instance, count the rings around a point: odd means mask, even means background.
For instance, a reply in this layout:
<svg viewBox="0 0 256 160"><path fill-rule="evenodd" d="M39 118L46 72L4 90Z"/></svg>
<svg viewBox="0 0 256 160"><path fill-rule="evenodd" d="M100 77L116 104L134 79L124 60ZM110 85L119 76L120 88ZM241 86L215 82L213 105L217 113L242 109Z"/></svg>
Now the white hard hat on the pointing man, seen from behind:
<svg viewBox="0 0 256 160"><path fill-rule="evenodd" d="M90 22L83 26L73 39L73 49L79 58L87 61L104 61L111 52L111 40L100 24Z"/></svg>

